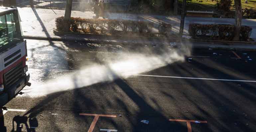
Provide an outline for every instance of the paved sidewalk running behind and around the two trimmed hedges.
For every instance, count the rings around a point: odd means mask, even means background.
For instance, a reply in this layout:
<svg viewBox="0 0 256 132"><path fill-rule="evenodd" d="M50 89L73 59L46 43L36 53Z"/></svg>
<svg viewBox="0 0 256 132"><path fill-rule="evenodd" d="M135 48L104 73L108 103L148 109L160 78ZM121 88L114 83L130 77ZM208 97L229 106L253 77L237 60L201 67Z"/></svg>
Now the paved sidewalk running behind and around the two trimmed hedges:
<svg viewBox="0 0 256 132"><path fill-rule="evenodd" d="M55 18L59 16L64 16L64 10L56 10L56 9L32 9L30 7L18 8L20 16L21 16L21 26L23 29L23 35L27 36L27 38L42 38L42 39L56 39L56 40L72 40L72 41L88 41L88 42L104 42L104 43L168 43L170 40L175 40L176 38L170 38L169 40L161 40L159 39L133 39L133 40L123 40L120 38L114 37L101 37L92 36L92 35L55 35L54 30L56 28ZM81 12L81 11L72 11L71 16L73 17L81 17L81 18L92 18L92 12ZM152 22L158 22L159 20L165 21L173 25L173 33L179 32L180 26L180 16L156 16L156 15L135 15L135 14L117 14L111 13L107 14L109 19L130 19L130 20L148 20ZM222 24L233 24L234 19L227 18L200 18L200 17L186 17L185 21L185 29L184 33L188 34L188 25L189 23L222 23ZM256 20L253 19L243 19L243 25L249 25L253 28L252 38L256 40ZM207 44L207 42L204 42ZM195 43L194 43L195 45ZM202 45L198 45L202 47ZM211 45L212 46L212 45ZM224 46L227 48L227 46ZM229 46L230 47L230 46ZM243 48L244 45L242 46ZM239 47L238 47L239 48ZM241 47L240 47L241 48ZM256 49L254 46L251 48Z"/></svg>

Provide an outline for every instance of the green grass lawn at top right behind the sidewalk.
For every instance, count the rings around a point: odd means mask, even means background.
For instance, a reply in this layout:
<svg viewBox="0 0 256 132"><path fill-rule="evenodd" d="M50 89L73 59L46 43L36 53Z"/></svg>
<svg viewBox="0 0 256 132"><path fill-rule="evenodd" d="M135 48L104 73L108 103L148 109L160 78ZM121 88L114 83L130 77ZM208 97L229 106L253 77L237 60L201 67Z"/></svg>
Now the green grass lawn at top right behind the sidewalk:
<svg viewBox="0 0 256 132"><path fill-rule="evenodd" d="M179 0L179 3L182 3L183 0ZM187 2L187 10L189 11L214 11L216 2L211 0L202 0L203 2L198 2L199 0L192 0ZM256 10L256 0L248 0L248 4L245 4L245 0L242 1L242 8ZM232 0L231 10L235 9L234 0Z"/></svg>

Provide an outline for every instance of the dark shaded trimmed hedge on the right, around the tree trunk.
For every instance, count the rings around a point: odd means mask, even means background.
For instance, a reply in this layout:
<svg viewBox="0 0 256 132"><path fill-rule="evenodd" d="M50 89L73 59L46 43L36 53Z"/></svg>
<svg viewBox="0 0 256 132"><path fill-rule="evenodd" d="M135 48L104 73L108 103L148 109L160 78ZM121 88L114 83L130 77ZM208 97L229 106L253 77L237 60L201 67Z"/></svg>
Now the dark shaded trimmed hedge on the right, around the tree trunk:
<svg viewBox="0 0 256 132"><path fill-rule="evenodd" d="M234 32L235 26L228 24L193 23L189 25L189 34L193 39L197 39L202 36L208 36L211 40L233 40ZM242 41L249 41L251 33L251 27L241 26L240 35Z"/></svg>

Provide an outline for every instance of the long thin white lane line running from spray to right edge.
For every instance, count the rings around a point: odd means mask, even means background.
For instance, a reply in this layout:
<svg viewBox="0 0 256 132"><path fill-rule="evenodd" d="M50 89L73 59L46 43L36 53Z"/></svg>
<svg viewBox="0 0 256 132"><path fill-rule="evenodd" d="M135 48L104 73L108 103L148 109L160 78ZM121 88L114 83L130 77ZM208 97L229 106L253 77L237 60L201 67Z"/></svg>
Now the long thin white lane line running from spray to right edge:
<svg viewBox="0 0 256 132"><path fill-rule="evenodd" d="M229 80L229 79L211 79L211 78L190 78L190 77L175 77L175 76L157 76L157 75L142 75L137 76L146 76L146 77L160 77L160 78L179 78L179 79L197 79L197 80L214 80L214 81L232 81L232 82L256 82L251 80Z"/></svg>

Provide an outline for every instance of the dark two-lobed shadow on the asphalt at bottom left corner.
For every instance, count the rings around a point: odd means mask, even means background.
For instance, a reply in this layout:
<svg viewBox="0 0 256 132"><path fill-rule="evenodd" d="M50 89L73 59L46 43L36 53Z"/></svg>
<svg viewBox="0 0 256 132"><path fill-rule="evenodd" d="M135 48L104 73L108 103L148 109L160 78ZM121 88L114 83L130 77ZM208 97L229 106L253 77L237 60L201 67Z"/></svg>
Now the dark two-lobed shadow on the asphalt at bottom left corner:
<svg viewBox="0 0 256 132"><path fill-rule="evenodd" d="M28 125L28 119L29 119L29 125ZM14 122L16 122L16 131L14 128ZM27 132L36 132L35 128L38 127L38 121L36 118L29 118L27 116L15 116L12 121L12 132L22 132L23 124L25 124L25 127L27 129Z"/></svg>

